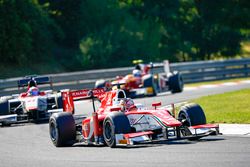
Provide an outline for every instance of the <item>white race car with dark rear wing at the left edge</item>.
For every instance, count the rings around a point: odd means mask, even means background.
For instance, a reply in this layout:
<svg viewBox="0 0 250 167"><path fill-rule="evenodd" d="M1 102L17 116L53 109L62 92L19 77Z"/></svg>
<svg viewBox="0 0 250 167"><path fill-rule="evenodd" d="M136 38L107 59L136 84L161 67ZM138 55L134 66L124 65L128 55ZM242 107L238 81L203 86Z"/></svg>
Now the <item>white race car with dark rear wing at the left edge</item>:
<svg viewBox="0 0 250 167"><path fill-rule="evenodd" d="M37 85L51 84L49 77L26 77L18 87L28 86L27 92L0 97L0 123L48 120L51 113L62 111L61 92L39 91Z"/></svg>

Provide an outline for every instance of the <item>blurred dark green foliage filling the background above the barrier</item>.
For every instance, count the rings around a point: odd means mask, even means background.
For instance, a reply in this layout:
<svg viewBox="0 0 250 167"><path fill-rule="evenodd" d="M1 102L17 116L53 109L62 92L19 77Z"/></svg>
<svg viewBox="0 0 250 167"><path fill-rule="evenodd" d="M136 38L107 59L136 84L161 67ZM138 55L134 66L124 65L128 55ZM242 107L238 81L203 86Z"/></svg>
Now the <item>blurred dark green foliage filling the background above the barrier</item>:
<svg viewBox="0 0 250 167"><path fill-rule="evenodd" d="M249 10L248 0L0 0L0 77L234 57Z"/></svg>

